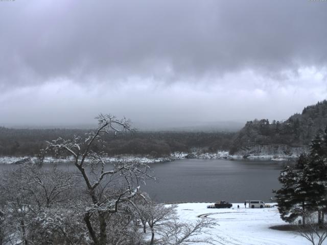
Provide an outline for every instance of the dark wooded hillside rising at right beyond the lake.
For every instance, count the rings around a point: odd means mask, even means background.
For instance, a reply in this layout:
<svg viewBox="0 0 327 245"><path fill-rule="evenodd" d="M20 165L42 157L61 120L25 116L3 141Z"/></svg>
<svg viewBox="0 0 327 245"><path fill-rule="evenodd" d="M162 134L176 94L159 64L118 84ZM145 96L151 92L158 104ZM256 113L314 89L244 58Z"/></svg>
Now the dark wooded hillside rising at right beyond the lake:
<svg viewBox="0 0 327 245"><path fill-rule="evenodd" d="M246 122L233 141L230 153L237 153L253 145L287 145L306 148L319 129L327 125L327 101L307 106L287 120L269 122L255 119Z"/></svg>

